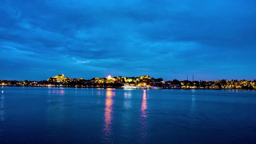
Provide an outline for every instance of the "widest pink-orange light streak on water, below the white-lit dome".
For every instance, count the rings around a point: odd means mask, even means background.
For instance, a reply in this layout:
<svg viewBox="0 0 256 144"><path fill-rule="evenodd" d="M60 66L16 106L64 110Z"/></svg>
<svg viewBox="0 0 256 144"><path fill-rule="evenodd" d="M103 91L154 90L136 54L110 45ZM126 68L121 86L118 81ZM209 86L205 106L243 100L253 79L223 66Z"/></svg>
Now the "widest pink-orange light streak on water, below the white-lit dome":
<svg viewBox="0 0 256 144"><path fill-rule="evenodd" d="M115 89L108 88L106 90L105 108L104 108L104 123L103 123L103 143L113 143L113 96L115 96Z"/></svg>

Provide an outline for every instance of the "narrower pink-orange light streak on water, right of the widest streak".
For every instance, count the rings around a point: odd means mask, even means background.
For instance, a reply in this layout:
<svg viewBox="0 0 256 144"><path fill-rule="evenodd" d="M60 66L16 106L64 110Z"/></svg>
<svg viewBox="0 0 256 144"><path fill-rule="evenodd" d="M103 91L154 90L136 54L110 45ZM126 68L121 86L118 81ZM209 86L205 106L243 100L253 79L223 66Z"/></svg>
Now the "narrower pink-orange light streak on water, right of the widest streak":
<svg viewBox="0 0 256 144"><path fill-rule="evenodd" d="M148 142L148 130L149 130L149 123L147 121L148 112L147 112L147 95L146 90L143 89L143 95L142 95L142 102L140 107L140 117L139 117L139 124L140 128L138 129L139 132L139 138L138 141L141 144Z"/></svg>

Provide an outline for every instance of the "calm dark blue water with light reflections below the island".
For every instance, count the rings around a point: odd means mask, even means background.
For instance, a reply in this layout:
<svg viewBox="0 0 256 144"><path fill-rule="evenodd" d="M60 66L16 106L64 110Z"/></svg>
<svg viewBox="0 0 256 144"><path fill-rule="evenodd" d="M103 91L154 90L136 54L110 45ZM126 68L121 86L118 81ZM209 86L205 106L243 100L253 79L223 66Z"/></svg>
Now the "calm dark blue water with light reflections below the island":
<svg viewBox="0 0 256 144"><path fill-rule="evenodd" d="M0 144L255 144L256 91L0 88Z"/></svg>

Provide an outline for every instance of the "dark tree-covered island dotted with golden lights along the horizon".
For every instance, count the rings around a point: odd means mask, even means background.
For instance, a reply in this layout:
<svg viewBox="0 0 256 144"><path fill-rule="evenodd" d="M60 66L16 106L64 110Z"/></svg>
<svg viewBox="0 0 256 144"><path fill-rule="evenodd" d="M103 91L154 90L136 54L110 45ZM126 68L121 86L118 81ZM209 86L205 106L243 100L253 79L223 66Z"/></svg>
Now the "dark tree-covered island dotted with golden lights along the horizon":
<svg viewBox="0 0 256 144"><path fill-rule="evenodd" d="M95 77L90 80L71 79L60 74L42 81L0 80L1 86L55 86L55 87L87 87L87 88L123 88L123 86L158 87L163 89L256 89L256 79L251 80L216 80L189 81L155 79L148 75L140 77Z"/></svg>

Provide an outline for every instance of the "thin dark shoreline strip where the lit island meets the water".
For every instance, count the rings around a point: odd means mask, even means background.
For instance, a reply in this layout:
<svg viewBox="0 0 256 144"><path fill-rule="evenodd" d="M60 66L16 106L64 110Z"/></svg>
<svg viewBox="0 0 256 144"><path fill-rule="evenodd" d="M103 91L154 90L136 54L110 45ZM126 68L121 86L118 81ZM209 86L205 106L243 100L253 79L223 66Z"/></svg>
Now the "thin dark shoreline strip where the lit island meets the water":
<svg viewBox="0 0 256 144"><path fill-rule="evenodd" d="M4 87L4 86L1 86ZM44 88L99 88L99 89L124 89L122 87L110 87L110 86L6 86L6 87L44 87ZM183 89L183 90L192 90L192 89L206 89L206 90L255 90L255 89L232 89L232 88L218 88L218 89L211 89L211 88L162 88L162 89Z"/></svg>

